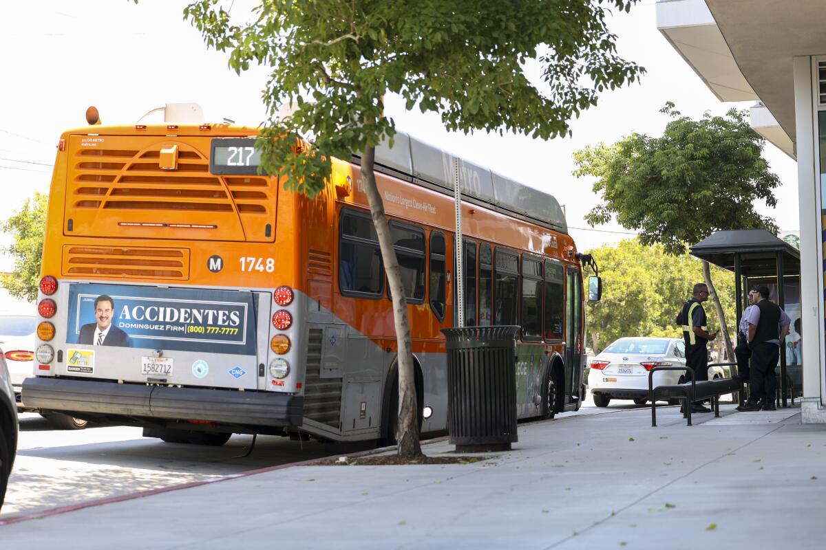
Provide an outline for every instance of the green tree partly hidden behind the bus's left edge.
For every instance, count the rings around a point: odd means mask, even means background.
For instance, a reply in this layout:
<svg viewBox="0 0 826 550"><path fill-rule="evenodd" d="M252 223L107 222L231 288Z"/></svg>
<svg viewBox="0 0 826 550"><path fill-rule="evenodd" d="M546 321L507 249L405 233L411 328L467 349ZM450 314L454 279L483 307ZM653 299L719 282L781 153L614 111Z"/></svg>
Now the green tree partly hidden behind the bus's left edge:
<svg viewBox="0 0 826 550"><path fill-rule="evenodd" d="M11 275L3 275L2 285L15 298L34 302L40 282L43 257L43 233L46 226L47 195L35 193L11 218L2 223L2 231L14 237L4 250L14 258Z"/></svg>

